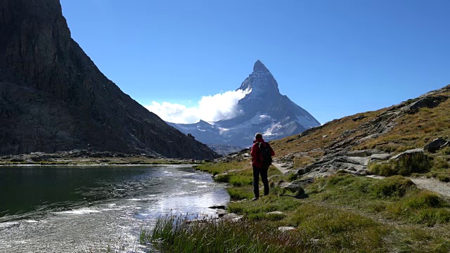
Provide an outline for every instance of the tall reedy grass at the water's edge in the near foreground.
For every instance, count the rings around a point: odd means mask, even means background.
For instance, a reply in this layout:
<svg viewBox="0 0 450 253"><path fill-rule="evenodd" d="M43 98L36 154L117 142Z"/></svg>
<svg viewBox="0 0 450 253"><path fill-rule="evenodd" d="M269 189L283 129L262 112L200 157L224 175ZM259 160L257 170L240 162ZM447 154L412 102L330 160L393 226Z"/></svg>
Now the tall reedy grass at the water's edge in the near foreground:
<svg viewBox="0 0 450 253"><path fill-rule="evenodd" d="M182 216L158 219L148 240L162 252L297 252L304 249L294 235L281 233L270 223L186 223Z"/></svg>

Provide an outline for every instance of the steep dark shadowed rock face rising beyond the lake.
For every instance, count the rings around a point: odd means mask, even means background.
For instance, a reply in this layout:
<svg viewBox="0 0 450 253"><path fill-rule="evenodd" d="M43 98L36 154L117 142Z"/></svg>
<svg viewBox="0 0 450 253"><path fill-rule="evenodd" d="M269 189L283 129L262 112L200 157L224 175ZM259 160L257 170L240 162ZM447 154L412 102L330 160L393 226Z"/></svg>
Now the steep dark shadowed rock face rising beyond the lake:
<svg viewBox="0 0 450 253"><path fill-rule="evenodd" d="M58 0L0 1L0 154L86 148L218 157L106 78L70 37Z"/></svg>

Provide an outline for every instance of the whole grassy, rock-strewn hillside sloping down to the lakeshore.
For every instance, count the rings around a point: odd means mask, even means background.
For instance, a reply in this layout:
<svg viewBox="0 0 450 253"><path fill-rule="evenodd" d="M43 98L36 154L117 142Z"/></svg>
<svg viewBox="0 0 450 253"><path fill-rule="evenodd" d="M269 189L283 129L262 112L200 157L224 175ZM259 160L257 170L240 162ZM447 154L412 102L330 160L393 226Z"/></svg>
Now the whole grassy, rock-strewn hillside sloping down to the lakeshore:
<svg viewBox="0 0 450 253"><path fill-rule="evenodd" d="M449 140L449 97L450 86L446 86L390 108L335 119L271 142L276 163L290 173L281 174L271 166L271 193L257 201L250 200L248 150L203 164L199 169L229 183L233 201L227 209L242 220L162 219L142 242L158 242L158 247L171 252L450 252L448 196L413 183L419 177L432 183L439 183L433 177L450 181L450 148L420 153L416 160L406 156L399 161L360 162L371 160L371 154L391 157L423 148L438 137ZM354 160L354 167L360 169L352 171L349 164ZM427 167L414 170L419 163ZM401 174L402 167L419 172L408 173L411 178L361 176L385 171L380 167L388 167L391 174ZM285 182L301 186L304 194L290 192ZM293 230L281 231L286 226Z"/></svg>

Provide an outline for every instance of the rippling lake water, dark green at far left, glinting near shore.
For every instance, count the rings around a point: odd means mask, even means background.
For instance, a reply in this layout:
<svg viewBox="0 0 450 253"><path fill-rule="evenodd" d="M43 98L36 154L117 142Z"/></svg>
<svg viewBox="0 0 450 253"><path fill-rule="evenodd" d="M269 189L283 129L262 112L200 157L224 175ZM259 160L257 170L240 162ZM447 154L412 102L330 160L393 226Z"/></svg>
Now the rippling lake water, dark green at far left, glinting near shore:
<svg viewBox="0 0 450 253"><path fill-rule="evenodd" d="M0 252L147 252L141 227L214 216L229 195L184 166L0 167Z"/></svg>

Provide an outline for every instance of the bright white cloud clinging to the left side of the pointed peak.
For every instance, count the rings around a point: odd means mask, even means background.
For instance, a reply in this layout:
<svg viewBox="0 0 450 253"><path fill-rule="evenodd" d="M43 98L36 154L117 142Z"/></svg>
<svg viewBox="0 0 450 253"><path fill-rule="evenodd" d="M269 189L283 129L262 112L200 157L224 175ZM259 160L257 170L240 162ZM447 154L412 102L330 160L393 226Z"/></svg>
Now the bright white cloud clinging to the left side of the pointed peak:
<svg viewBox="0 0 450 253"><path fill-rule="evenodd" d="M238 108L238 101L249 92L226 91L214 96L202 96L198 105L189 108L177 103L155 101L151 105L146 105L145 108L167 122L188 124L198 122L200 119L216 122L221 119L231 119L242 113Z"/></svg>

